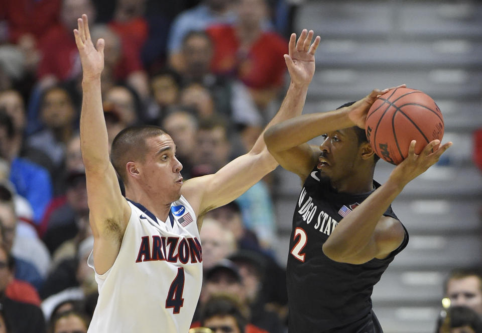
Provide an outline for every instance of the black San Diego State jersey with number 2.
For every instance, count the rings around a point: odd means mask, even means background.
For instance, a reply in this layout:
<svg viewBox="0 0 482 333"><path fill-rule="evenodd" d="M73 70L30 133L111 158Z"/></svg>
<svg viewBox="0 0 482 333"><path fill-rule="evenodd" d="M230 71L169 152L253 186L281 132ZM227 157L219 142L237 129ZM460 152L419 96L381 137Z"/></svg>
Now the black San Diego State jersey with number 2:
<svg viewBox="0 0 482 333"><path fill-rule="evenodd" d="M374 181L374 186L380 184ZM337 193L314 168L305 180L293 215L287 264L290 333L378 332L372 312L373 286L408 243L386 259L353 265L329 259L322 251L338 221L371 193ZM397 218L390 206L384 213ZM372 323L374 322L374 323Z"/></svg>

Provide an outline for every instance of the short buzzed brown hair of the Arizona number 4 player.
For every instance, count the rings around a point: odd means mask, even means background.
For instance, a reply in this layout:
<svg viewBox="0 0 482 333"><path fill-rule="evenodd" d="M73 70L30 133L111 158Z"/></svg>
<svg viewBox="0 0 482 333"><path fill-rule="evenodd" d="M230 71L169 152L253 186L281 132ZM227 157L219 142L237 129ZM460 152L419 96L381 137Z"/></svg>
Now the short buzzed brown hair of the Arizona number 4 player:
<svg viewBox="0 0 482 333"><path fill-rule="evenodd" d="M110 160L122 181L127 183L126 164L129 161L144 161L148 138L167 134L158 126L141 125L125 128L112 141Z"/></svg>

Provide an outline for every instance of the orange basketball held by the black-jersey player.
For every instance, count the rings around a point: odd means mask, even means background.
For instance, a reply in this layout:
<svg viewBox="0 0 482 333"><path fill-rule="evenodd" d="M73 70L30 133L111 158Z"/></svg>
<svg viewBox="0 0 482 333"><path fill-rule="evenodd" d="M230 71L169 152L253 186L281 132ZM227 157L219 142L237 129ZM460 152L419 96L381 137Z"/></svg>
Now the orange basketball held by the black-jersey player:
<svg viewBox="0 0 482 333"><path fill-rule="evenodd" d="M416 154L429 142L442 140L444 124L440 109L429 95L420 90L397 88L373 103L365 128L375 153L397 165L407 157L412 140L417 141Z"/></svg>

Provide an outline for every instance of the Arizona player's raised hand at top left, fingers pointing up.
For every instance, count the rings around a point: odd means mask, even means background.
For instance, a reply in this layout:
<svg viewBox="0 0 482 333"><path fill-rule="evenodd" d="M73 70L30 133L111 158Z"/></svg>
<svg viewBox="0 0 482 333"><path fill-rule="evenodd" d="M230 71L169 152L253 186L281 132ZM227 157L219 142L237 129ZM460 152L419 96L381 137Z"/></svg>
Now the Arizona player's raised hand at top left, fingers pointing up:
<svg viewBox="0 0 482 333"><path fill-rule="evenodd" d="M77 19L78 29L74 29L75 44L80 54L83 80L100 78L104 68L104 45L102 38L97 41L96 47L92 44L87 15Z"/></svg>

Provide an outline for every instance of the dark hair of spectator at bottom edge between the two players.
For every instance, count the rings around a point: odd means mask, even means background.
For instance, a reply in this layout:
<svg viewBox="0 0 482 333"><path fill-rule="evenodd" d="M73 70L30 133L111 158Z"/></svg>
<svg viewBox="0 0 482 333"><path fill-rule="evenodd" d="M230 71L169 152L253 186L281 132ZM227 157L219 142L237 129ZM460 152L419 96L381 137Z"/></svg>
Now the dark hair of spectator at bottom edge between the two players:
<svg viewBox="0 0 482 333"><path fill-rule="evenodd" d="M213 296L204 304L201 310L201 325L215 316L232 316L240 332L244 332L248 324L248 316L243 311L243 305L229 295Z"/></svg>

